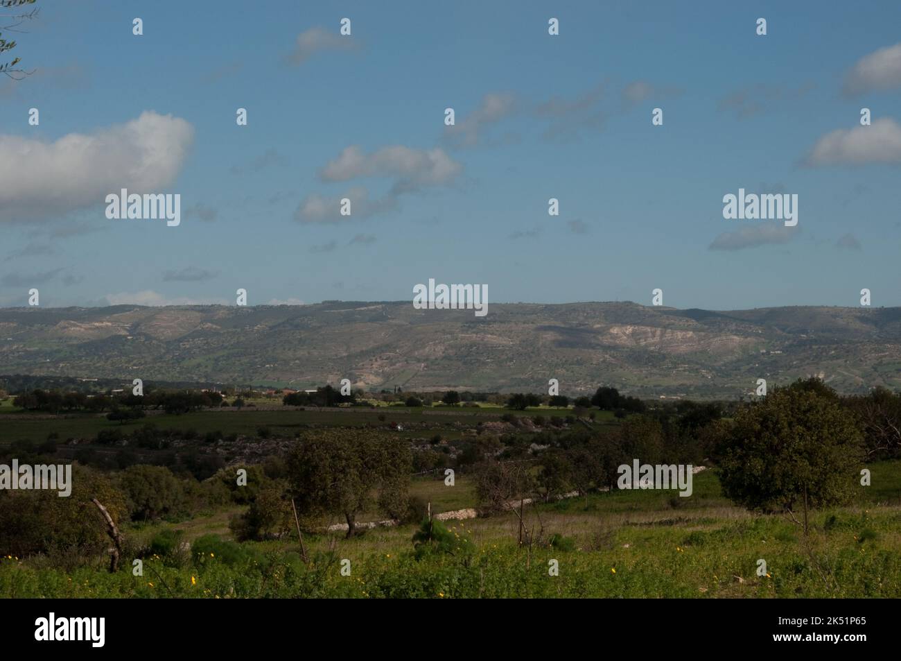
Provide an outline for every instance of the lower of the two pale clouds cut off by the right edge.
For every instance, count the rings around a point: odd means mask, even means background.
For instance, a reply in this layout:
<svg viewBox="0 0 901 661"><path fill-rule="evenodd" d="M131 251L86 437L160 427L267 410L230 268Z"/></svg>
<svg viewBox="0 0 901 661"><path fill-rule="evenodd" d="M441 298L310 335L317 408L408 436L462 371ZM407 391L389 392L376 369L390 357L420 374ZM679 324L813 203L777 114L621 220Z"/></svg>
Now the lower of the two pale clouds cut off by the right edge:
<svg viewBox="0 0 901 661"><path fill-rule="evenodd" d="M889 117L869 126L837 129L816 141L804 163L818 165L863 165L901 162L901 126Z"/></svg>

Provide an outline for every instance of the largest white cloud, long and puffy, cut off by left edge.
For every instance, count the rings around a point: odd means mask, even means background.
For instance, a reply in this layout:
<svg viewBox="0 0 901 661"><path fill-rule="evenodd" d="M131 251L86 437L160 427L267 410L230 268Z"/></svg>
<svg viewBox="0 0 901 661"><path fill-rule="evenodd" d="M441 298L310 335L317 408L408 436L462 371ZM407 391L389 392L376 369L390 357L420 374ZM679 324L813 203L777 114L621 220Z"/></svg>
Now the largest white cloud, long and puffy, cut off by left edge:
<svg viewBox="0 0 901 661"><path fill-rule="evenodd" d="M194 129L184 119L137 119L54 142L0 135L0 222L43 219L104 204L105 196L157 193L177 177Z"/></svg>

